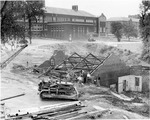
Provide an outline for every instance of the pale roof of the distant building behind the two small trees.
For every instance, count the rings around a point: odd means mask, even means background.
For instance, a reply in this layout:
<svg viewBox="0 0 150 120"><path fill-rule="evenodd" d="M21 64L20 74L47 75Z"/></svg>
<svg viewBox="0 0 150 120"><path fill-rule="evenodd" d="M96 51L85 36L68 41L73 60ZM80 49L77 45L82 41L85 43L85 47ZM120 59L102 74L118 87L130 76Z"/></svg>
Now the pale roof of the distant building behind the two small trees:
<svg viewBox="0 0 150 120"><path fill-rule="evenodd" d="M129 21L132 20L134 22L139 22L139 19L128 18L128 17L111 17L107 21Z"/></svg>

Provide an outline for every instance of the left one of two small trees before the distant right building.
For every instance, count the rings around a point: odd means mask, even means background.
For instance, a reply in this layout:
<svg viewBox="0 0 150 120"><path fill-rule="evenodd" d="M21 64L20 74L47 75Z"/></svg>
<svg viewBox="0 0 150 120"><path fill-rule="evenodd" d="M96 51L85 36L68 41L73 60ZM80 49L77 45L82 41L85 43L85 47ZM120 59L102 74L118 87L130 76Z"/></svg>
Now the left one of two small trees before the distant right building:
<svg viewBox="0 0 150 120"><path fill-rule="evenodd" d="M120 39L122 37L122 24L120 22L112 22L111 33L114 34L118 42L120 42Z"/></svg>

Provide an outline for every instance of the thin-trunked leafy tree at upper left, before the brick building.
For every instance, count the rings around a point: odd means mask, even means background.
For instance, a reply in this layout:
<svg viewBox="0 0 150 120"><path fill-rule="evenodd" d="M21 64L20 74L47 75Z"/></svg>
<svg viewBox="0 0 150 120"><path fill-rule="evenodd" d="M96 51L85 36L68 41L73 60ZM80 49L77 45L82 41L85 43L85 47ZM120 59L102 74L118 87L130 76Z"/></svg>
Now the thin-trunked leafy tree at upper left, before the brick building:
<svg viewBox="0 0 150 120"><path fill-rule="evenodd" d="M25 13L25 18L28 20L29 24L29 29L28 29L28 34L29 34L29 39L30 39L30 44L32 43L32 23L35 21L37 22L37 17L38 16L44 16L44 5L42 2L39 1L29 1L26 0L24 4L24 13Z"/></svg>

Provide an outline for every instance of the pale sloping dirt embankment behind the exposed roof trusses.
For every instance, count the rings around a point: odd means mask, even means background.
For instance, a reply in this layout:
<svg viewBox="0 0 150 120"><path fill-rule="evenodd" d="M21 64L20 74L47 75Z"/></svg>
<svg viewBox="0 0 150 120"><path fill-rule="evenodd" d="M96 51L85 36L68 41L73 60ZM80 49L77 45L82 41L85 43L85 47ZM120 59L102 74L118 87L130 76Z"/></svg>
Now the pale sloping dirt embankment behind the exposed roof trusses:
<svg viewBox="0 0 150 120"><path fill-rule="evenodd" d="M12 61L12 63L26 65L26 62L29 62L29 66L34 64L41 64L45 60L48 60L55 50L62 50L65 52L66 55L71 55L74 52L77 52L80 55L86 56L88 53L92 53L96 56L107 55L108 53L115 53L120 56L121 60L127 63L127 65L136 65L139 64L141 61L139 60L140 54L132 53L131 51L125 49L123 44L119 44L117 46L122 46L124 49L118 49L118 47L114 46L114 43L106 44L112 46L105 45L104 42L62 42L62 41L46 41L44 44L38 44L36 41L35 45L29 45L25 48L16 59ZM116 43L117 44L117 43ZM136 45L136 44L135 44ZM127 44L125 44L127 48ZM134 45L133 45L134 46ZM132 50L134 51L134 50ZM15 51L14 51L15 52ZM1 60L5 60L8 58L13 52L5 50L2 52Z"/></svg>

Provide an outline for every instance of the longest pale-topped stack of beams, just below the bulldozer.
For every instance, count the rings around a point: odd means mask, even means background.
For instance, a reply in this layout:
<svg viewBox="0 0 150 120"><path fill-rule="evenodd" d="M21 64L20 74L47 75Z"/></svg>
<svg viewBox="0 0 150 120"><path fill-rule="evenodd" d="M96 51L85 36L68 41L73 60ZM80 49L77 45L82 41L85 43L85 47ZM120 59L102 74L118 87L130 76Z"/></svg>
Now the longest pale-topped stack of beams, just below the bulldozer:
<svg viewBox="0 0 150 120"><path fill-rule="evenodd" d="M12 119L25 119L25 118L48 118L56 115L72 113L78 111L83 107L80 101L67 102L49 106L35 107L24 110L18 110L18 112L7 115L8 120Z"/></svg>

